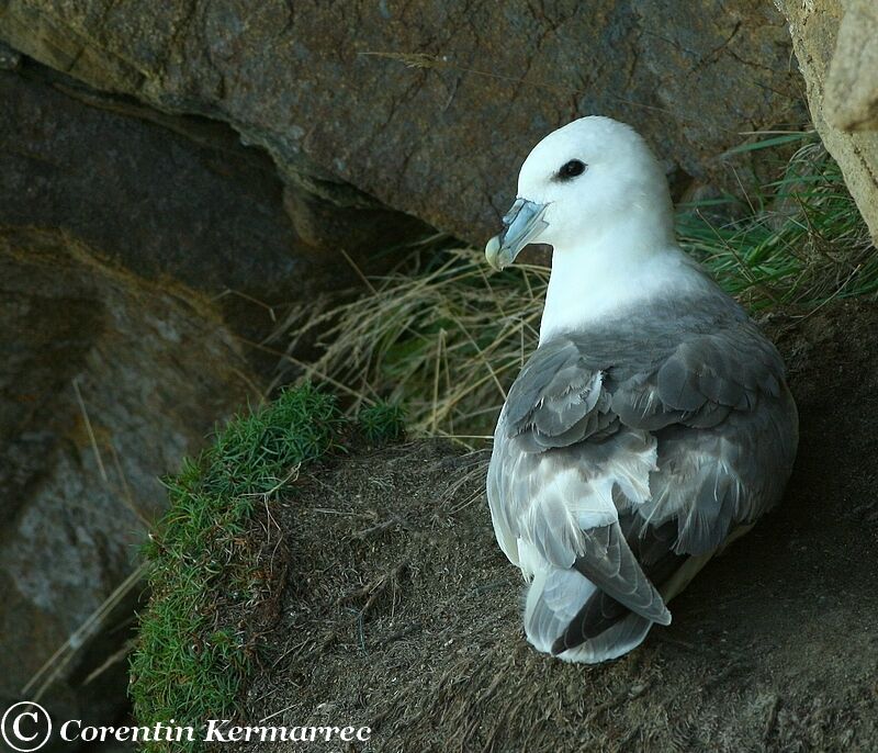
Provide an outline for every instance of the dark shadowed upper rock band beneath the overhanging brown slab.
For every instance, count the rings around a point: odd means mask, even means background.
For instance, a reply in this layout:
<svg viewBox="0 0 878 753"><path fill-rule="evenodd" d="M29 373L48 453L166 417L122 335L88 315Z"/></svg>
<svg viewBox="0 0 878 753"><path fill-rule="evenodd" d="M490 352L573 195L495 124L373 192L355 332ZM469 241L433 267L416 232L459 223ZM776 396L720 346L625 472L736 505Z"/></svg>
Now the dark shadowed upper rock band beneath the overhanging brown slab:
<svg viewBox="0 0 878 753"><path fill-rule="evenodd" d="M311 195L292 211L302 192L221 123L101 97L33 65L0 75L0 226L64 228L139 278L225 293L219 311L248 335L271 326L269 306L356 279L309 216L357 237L348 248L367 270L364 249L389 243L364 232L383 220L386 233L386 210L339 222ZM406 224L419 229L402 217L395 239Z"/></svg>

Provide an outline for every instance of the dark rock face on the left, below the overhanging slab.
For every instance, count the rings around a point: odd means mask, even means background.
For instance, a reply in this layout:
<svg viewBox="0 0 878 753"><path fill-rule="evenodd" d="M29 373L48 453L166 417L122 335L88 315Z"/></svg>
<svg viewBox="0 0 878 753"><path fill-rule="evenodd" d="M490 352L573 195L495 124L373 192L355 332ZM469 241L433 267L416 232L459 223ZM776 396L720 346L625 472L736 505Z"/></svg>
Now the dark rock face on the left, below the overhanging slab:
<svg viewBox="0 0 878 753"><path fill-rule="evenodd" d="M9 49L0 102L3 699L132 573L165 506L158 477L257 398L268 372L247 342L272 306L356 279L296 222L348 228L367 270L369 243L421 225L367 205L339 217L228 126L102 97ZM77 683L108 653L74 648L50 700L106 721L124 676L99 704L99 681Z"/></svg>

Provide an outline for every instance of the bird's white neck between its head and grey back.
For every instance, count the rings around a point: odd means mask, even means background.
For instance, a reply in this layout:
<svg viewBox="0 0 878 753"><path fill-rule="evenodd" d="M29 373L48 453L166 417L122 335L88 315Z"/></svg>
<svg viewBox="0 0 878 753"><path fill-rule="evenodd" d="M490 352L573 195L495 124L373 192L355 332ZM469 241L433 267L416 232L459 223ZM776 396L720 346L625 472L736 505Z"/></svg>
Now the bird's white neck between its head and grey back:
<svg viewBox="0 0 878 753"><path fill-rule="evenodd" d="M677 245L669 224L632 217L552 252L540 344L656 296L711 283Z"/></svg>

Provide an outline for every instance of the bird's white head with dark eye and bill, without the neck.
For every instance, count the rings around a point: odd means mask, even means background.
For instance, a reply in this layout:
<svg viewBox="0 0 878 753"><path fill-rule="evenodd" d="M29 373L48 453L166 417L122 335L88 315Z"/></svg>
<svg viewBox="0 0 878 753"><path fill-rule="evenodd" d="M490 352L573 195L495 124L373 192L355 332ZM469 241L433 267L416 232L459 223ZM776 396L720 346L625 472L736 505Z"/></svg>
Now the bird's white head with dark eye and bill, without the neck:
<svg viewBox="0 0 878 753"><path fill-rule="evenodd" d="M532 243L551 245L556 257L611 236L618 250L620 234L651 247L674 237L671 194L655 156L631 126L599 116L569 123L533 147L503 222L485 248L499 269Z"/></svg>

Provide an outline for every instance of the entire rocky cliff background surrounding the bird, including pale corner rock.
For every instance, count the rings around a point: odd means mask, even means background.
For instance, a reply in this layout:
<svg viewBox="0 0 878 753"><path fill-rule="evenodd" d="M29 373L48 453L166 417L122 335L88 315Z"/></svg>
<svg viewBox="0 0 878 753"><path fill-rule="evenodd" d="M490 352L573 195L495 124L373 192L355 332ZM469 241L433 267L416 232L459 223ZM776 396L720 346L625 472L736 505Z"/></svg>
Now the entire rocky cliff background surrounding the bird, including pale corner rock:
<svg viewBox="0 0 878 753"><path fill-rule="evenodd" d="M870 4L779 4L875 229L874 57L828 72L836 36L873 49ZM340 250L481 243L586 113L643 132L677 195L746 188L723 155L800 127L800 89L759 0L0 0L0 696L133 571L157 477L263 389L284 307L358 280Z"/></svg>

